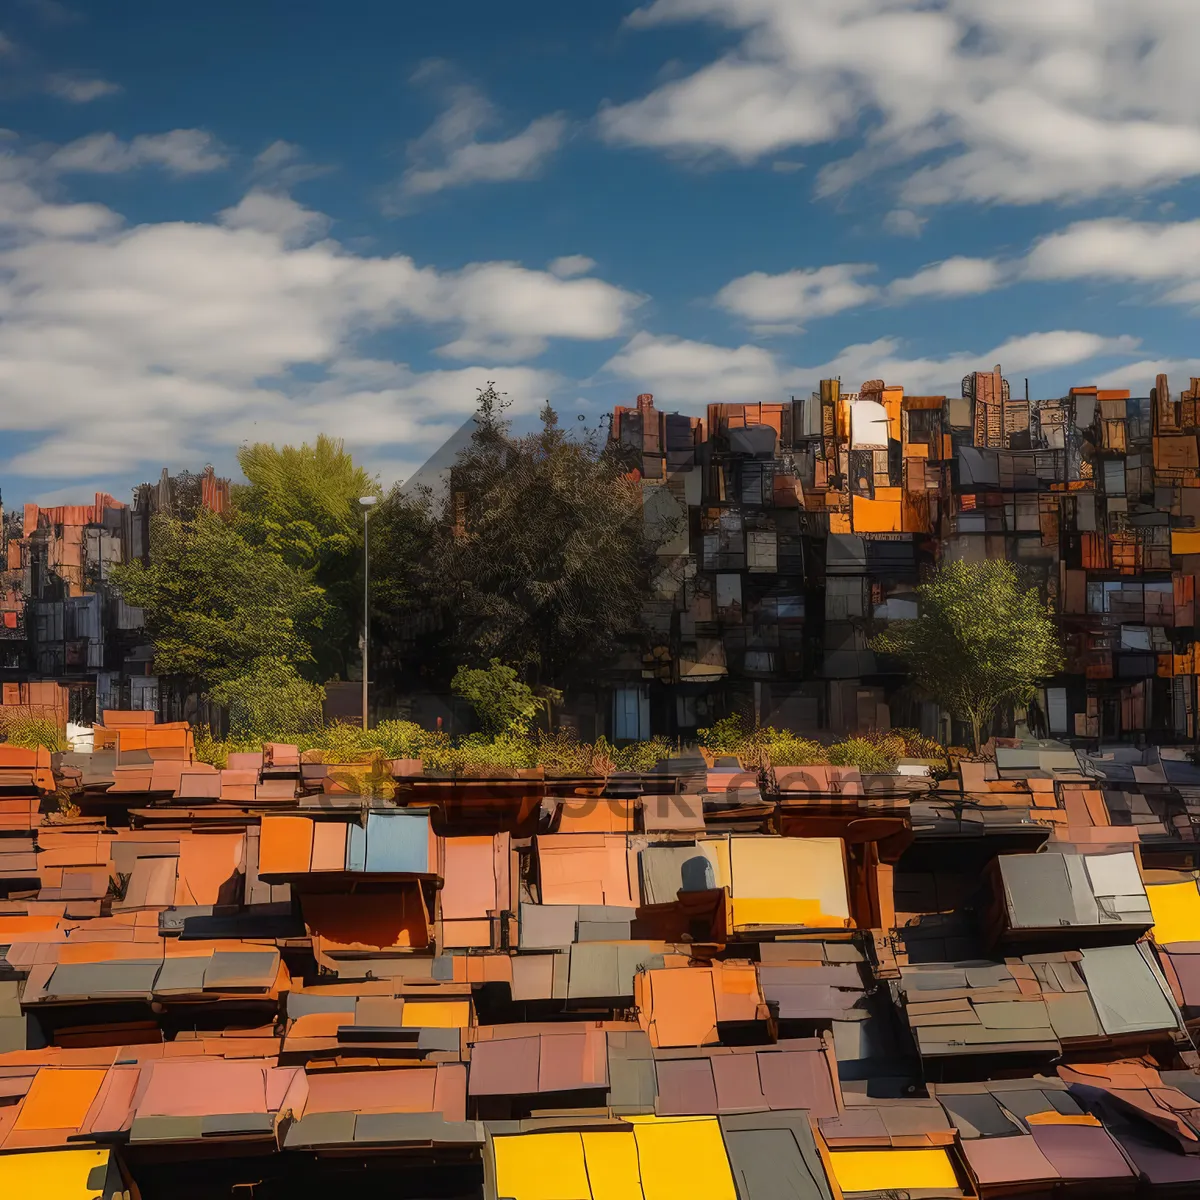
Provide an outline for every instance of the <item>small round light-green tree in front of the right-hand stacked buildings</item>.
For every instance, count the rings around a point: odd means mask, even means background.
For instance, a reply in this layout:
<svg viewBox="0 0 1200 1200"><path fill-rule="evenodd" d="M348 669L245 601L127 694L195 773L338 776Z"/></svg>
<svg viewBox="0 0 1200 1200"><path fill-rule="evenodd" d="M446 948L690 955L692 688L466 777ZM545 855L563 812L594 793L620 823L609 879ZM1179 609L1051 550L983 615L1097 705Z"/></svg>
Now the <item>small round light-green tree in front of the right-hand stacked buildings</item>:
<svg viewBox="0 0 1200 1200"><path fill-rule="evenodd" d="M1050 612L1012 563L946 563L917 588L919 616L893 622L871 648L902 659L913 682L971 724L974 749L1001 704L1027 704L1062 666Z"/></svg>

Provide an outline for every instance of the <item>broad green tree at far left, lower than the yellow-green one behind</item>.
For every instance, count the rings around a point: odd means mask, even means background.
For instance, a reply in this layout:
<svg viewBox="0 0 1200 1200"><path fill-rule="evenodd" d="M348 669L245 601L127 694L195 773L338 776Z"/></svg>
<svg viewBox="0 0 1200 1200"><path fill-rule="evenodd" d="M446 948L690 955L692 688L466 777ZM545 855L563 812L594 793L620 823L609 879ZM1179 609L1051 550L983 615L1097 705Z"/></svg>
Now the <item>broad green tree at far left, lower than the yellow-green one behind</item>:
<svg viewBox="0 0 1200 1200"><path fill-rule="evenodd" d="M186 521L156 516L149 557L118 568L114 581L145 613L157 671L215 686L260 660L311 667L329 606L277 553L200 512Z"/></svg>

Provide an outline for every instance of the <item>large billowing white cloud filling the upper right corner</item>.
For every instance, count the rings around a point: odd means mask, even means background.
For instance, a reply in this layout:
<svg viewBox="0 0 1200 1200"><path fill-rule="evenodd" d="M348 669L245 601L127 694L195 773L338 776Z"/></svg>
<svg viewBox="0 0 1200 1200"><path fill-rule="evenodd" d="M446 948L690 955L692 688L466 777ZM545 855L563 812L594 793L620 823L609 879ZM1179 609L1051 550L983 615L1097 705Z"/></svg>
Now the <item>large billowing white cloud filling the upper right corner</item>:
<svg viewBox="0 0 1200 1200"><path fill-rule="evenodd" d="M1190 0L653 0L732 46L601 109L611 142L748 163L853 138L818 190L904 168L906 206L1032 204L1200 174Z"/></svg>

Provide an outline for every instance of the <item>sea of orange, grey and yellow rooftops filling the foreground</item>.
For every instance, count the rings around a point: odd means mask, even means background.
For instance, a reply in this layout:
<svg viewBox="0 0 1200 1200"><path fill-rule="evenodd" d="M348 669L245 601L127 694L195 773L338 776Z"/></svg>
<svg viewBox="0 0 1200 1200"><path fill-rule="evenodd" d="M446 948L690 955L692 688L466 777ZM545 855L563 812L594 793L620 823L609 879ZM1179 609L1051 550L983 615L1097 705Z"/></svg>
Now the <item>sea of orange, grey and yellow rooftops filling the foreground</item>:
<svg viewBox="0 0 1200 1200"><path fill-rule="evenodd" d="M0 1194L1200 1188L1183 751L389 760L384 802L92 738L0 746Z"/></svg>

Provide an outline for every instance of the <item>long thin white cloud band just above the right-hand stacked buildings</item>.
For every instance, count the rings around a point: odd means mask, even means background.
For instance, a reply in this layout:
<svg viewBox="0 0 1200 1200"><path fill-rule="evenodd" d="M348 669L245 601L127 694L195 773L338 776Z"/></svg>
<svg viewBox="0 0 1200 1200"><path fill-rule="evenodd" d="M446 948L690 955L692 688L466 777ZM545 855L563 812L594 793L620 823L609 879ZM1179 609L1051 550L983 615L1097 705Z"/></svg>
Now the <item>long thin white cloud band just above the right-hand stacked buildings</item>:
<svg viewBox="0 0 1200 1200"><path fill-rule="evenodd" d="M866 379L901 384L913 394L956 394L962 377L994 362L1014 376L1130 354L1133 337L1054 330L1013 337L983 353L908 358L898 338L847 346L827 362L793 366L758 346L724 347L679 337L638 334L605 370L661 397L664 406L694 409L714 402L772 401L810 391L820 379L841 377L847 390Z"/></svg>

